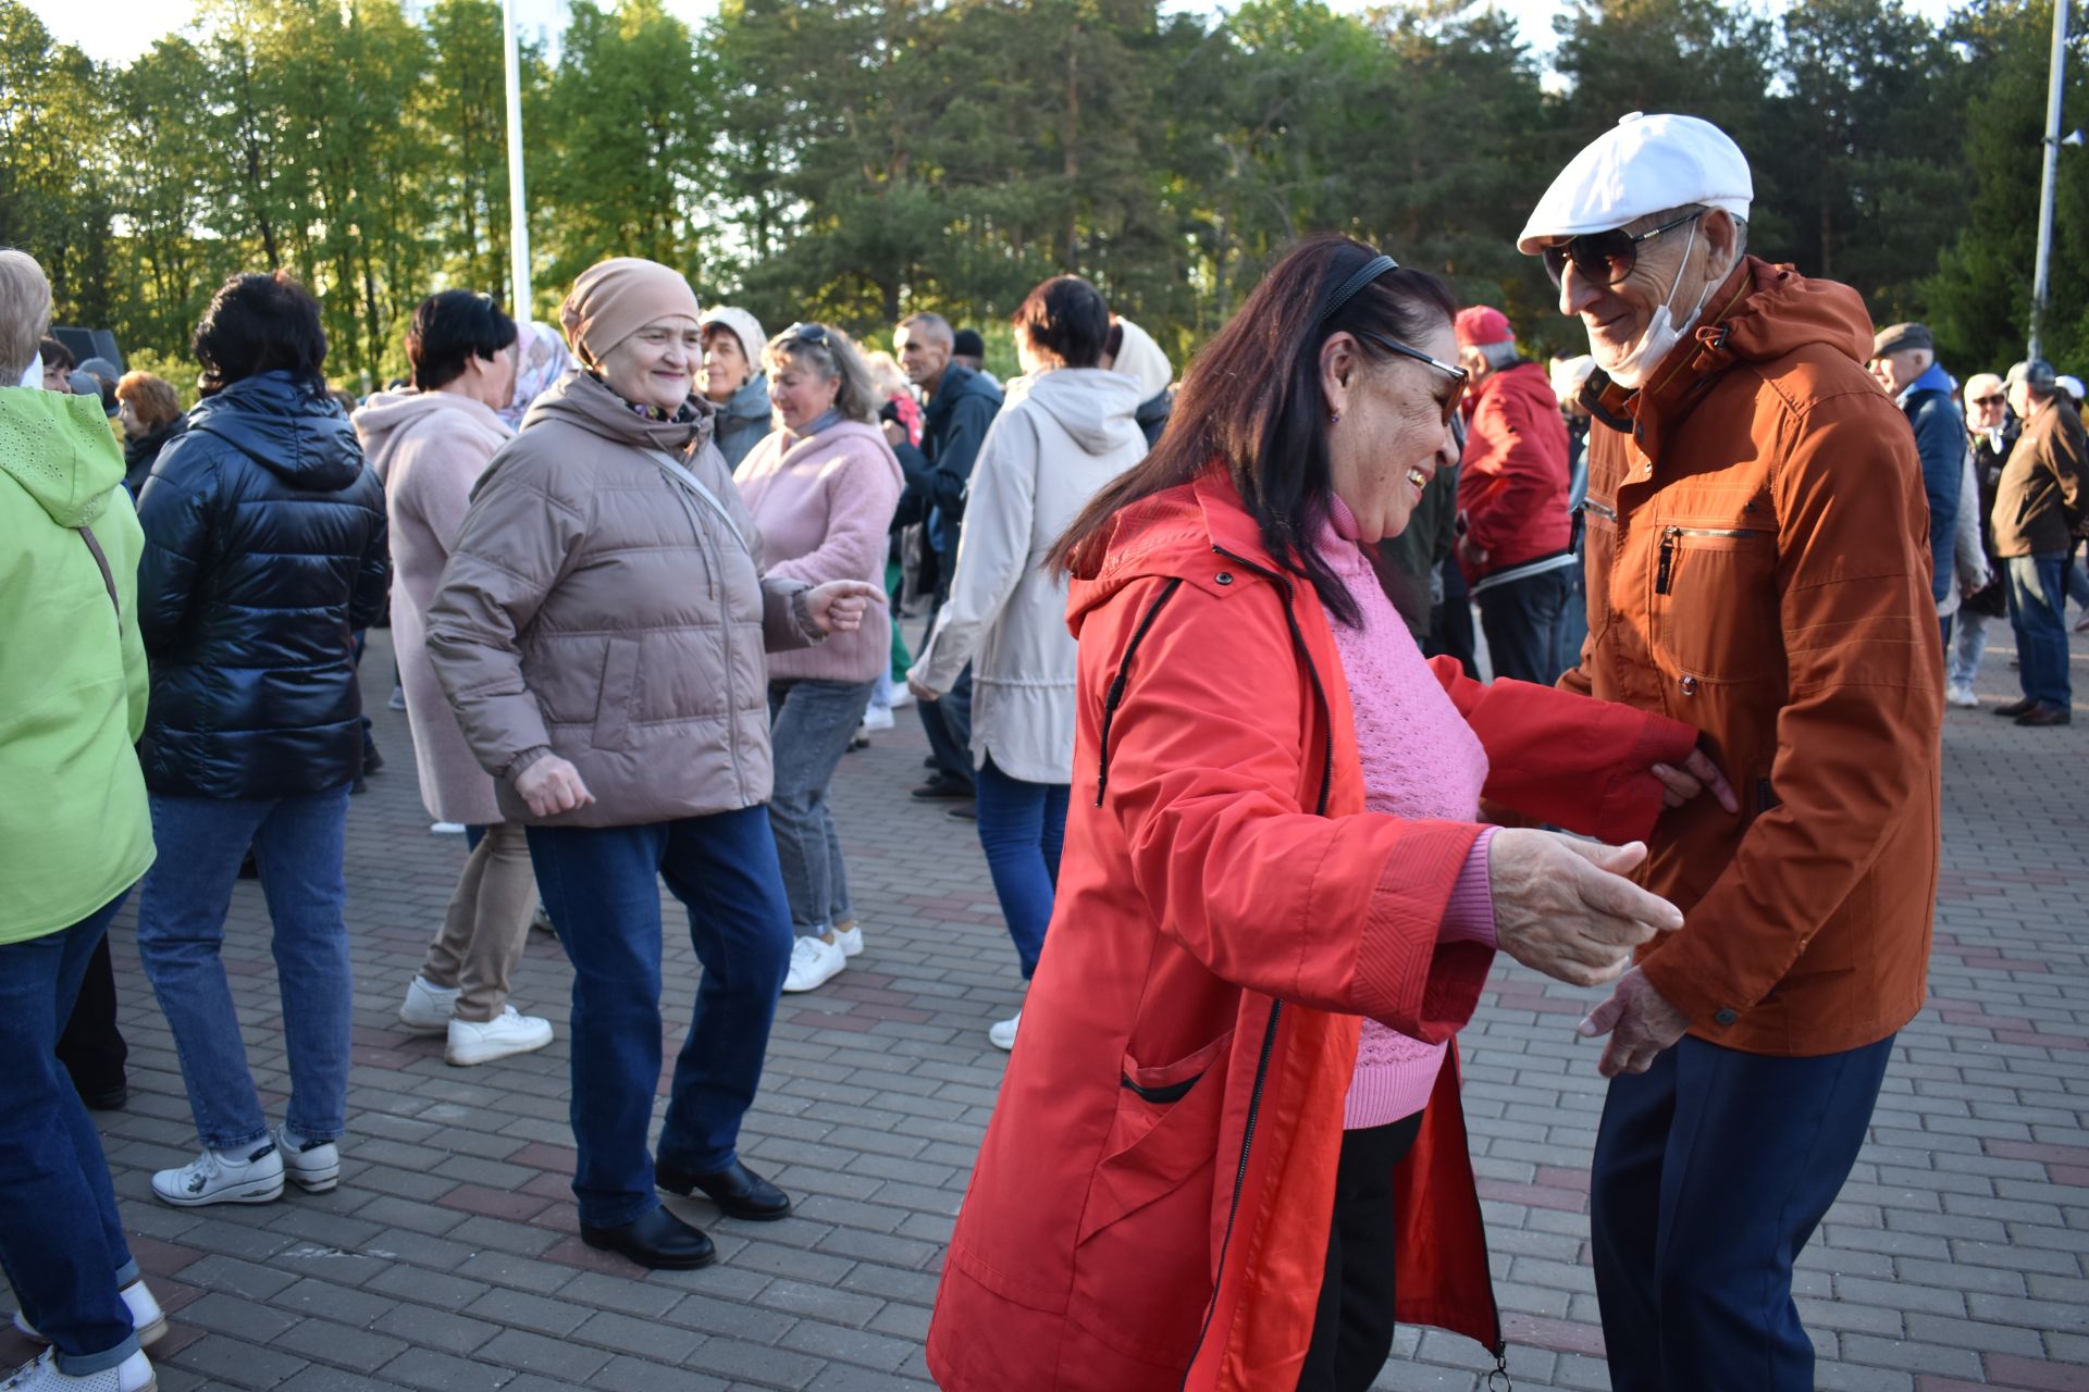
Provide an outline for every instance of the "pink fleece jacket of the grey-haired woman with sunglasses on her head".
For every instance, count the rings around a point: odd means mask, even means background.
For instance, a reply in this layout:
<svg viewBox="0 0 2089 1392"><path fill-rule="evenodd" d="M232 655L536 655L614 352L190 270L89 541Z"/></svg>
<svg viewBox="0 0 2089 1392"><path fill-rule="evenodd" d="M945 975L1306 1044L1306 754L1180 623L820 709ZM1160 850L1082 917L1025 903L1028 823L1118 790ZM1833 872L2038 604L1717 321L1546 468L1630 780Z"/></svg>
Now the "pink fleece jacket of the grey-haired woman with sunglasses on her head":
<svg viewBox="0 0 2089 1392"><path fill-rule="evenodd" d="M806 584L886 582L886 534L900 503L900 461L884 430L844 419L808 436L771 430L733 470L760 530L767 574ZM892 662L892 624L873 609L856 632L769 653L771 680L867 682Z"/></svg>

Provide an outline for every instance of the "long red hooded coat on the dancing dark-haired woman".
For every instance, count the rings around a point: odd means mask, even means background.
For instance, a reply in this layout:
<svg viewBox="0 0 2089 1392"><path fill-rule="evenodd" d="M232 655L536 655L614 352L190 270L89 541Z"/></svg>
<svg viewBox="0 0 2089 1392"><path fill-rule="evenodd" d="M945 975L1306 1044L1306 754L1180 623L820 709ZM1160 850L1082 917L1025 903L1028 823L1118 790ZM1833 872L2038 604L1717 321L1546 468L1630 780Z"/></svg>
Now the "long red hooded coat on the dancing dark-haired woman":
<svg viewBox="0 0 2089 1392"><path fill-rule="evenodd" d="M950 1238L930 1369L950 1392L1289 1388L1358 1018L1448 1039L1485 985L1489 950L1437 941L1479 826L1364 814L1327 614L1222 472L1120 513L1070 616L1051 952ZM1492 801L1609 839L1646 833L1646 768L1696 741L1435 670L1487 747ZM1456 1060L1393 1183L1400 1319L1500 1348Z"/></svg>

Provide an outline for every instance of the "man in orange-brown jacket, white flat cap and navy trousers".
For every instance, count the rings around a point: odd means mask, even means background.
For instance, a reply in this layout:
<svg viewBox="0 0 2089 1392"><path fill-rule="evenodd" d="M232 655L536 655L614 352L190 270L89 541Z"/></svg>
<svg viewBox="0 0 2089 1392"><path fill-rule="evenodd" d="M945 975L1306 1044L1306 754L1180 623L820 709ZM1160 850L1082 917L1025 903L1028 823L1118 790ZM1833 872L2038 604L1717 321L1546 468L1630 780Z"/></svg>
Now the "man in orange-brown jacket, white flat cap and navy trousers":
<svg viewBox="0 0 2089 1392"><path fill-rule="evenodd" d="M1581 1025L1609 1033L1596 1294L1617 1392L1801 1392L1792 1261L1922 1008L1943 647L1905 417L1847 286L1744 255L1717 127L1625 117L1519 238L1602 369L1590 639L1563 685L1705 730L1742 793L1654 833L1684 910Z"/></svg>

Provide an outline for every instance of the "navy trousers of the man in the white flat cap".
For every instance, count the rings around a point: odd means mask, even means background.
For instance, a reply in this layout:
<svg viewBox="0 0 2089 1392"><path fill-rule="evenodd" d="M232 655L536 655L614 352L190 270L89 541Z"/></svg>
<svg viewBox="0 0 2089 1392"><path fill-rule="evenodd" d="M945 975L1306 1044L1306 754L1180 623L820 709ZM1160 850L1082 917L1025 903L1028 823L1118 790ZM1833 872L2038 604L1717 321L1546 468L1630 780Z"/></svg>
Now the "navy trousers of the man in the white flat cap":
<svg viewBox="0 0 2089 1392"><path fill-rule="evenodd" d="M1596 1298L1613 1392L1813 1392L1792 1263L1863 1148L1893 1037L1767 1058L1684 1037L1611 1081Z"/></svg>

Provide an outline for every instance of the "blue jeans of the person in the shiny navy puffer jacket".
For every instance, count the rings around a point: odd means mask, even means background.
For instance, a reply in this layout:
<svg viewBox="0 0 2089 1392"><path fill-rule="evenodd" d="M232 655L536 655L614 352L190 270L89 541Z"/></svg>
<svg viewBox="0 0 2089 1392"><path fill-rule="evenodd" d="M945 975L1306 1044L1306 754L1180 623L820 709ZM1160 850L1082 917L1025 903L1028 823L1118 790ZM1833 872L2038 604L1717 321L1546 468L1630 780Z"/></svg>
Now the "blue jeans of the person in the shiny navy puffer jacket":
<svg viewBox="0 0 2089 1392"><path fill-rule="evenodd" d="M341 1139L347 1125L355 995L341 916L349 897L341 874L347 820L347 787L261 799L152 795L159 860L138 899L138 956L173 1031L196 1135L211 1150L238 1150L267 1135L219 958L249 845L274 927L269 950L290 1056L284 1121L315 1142Z"/></svg>

